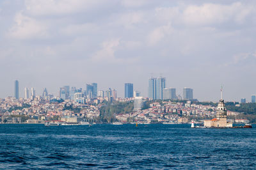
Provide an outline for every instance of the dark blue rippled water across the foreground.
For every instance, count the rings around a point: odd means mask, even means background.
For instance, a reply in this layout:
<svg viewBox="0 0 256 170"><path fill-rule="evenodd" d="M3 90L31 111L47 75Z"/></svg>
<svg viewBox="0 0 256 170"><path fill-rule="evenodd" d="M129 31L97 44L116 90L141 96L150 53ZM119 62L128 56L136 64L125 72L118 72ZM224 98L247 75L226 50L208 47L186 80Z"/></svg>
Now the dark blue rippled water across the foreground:
<svg viewBox="0 0 256 170"><path fill-rule="evenodd" d="M256 169L256 128L0 125L1 169Z"/></svg>

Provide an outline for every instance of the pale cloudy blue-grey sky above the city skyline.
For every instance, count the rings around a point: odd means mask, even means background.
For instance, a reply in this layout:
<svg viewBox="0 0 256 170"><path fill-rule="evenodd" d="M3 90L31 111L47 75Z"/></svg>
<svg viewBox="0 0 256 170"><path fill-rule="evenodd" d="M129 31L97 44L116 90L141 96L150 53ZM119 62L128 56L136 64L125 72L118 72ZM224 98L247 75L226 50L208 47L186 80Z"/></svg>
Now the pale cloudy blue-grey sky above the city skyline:
<svg viewBox="0 0 256 170"><path fill-rule="evenodd" d="M256 94L256 1L1 0L0 97L97 82L147 97L148 79L194 98Z"/></svg>

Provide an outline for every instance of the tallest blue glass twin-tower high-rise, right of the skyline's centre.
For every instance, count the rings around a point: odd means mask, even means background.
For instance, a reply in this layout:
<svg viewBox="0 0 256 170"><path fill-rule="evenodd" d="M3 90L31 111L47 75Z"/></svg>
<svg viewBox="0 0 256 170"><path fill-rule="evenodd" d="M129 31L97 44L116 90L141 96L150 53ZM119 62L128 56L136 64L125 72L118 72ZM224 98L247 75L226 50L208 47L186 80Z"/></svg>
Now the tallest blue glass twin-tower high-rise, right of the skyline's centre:
<svg viewBox="0 0 256 170"><path fill-rule="evenodd" d="M164 77L151 77L148 80L148 98L152 98L153 100L163 99L165 81L166 79Z"/></svg>

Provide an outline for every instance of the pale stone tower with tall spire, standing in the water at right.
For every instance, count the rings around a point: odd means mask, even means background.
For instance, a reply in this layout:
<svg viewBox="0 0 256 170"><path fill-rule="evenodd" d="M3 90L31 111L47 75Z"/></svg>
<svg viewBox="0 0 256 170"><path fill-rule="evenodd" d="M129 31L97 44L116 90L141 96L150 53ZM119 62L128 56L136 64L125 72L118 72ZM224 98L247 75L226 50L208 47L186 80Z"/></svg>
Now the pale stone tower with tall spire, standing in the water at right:
<svg viewBox="0 0 256 170"><path fill-rule="evenodd" d="M233 124L227 122L227 109L223 100L223 88L221 87L221 98L217 107L216 118L205 120L204 127L207 128L232 128Z"/></svg>

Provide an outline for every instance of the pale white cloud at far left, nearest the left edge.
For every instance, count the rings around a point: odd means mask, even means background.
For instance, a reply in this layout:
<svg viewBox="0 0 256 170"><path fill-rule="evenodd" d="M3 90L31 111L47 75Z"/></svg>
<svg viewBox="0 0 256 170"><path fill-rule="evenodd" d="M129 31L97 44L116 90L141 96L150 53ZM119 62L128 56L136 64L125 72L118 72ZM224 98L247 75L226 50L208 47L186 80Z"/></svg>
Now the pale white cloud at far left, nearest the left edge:
<svg viewBox="0 0 256 170"><path fill-rule="evenodd" d="M9 35L13 38L29 39L29 38L47 38L48 26L46 23L17 13L15 15L15 25L10 29Z"/></svg>

